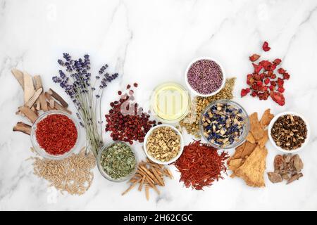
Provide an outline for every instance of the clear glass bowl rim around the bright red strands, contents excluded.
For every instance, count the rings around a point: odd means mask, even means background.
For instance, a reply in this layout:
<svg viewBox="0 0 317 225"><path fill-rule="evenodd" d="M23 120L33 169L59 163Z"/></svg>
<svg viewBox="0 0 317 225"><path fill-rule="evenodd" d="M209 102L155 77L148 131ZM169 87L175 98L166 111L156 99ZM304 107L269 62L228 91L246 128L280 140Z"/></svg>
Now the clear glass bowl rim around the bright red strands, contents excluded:
<svg viewBox="0 0 317 225"><path fill-rule="evenodd" d="M56 115L56 114L65 115L70 120L72 120L73 123L75 124L76 130L77 130L77 140L76 140L75 145L73 146L73 148L71 148L67 153L64 153L63 155L51 155L49 153L46 153L46 151L43 148L41 148L41 146L39 146L39 143L37 142L37 136L36 136L37 124L39 122L41 122L47 116ZM30 137L31 137L31 142L32 142L33 148L35 148L36 152L39 153L39 155L41 155L43 158L46 158L49 160L63 160L65 158L67 158L71 153L73 153L77 149L77 146L78 146L78 143L80 140L80 126L79 126L78 122L70 114L65 113L61 110L50 110L50 111L43 113L39 117L37 117L37 120L35 120L35 123L32 125Z"/></svg>

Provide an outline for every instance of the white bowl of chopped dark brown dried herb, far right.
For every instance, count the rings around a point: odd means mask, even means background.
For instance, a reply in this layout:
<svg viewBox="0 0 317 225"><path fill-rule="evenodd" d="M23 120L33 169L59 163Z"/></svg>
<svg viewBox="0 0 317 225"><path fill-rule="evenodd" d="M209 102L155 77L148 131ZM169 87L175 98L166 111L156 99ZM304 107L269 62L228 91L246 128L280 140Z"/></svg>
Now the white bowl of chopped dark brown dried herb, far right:
<svg viewBox="0 0 317 225"><path fill-rule="evenodd" d="M268 138L282 153L297 153L302 150L308 143L309 136L309 124L299 113L280 113L268 125Z"/></svg>

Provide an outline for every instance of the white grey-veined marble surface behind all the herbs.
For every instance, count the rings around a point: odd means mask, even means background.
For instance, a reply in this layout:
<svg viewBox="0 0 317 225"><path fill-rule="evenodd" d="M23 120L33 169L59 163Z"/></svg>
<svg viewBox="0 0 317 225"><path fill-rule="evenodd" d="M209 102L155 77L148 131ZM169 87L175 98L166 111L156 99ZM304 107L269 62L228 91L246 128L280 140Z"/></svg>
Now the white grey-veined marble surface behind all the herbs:
<svg viewBox="0 0 317 225"><path fill-rule="evenodd" d="M283 68L292 76L285 85L284 107L271 100L239 97L251 71L248 56L260 52L264 40L271 51L263 57L282 58ZM311 141L300 153L304 177L290 186L271 184L266 177L266 188L250 188L227 177L205 191L192 191L182 187L171 167L176 179L167 182L159 197L151 193L147 202L138 191L121 197L126 185L104 180L95 169L94 183L85 195L56 194L25 161L32 155L30 138L12 131L23 120L15 115L23 91L10 70L42 75L45 88L61 92L51 76L56 75L56 60L63 52L90 53L94 71L108 63L120 72L120 81L104 96L104 113L115 91L129 82L139 83L140 100L161 82L183 84L192 58L217 58L228 77L237 77L235 100L249 113L294 110L309 120ZM316 63L317 2L313 0L0 0L0 210L317 210ZM278 150L271 144L267 147L271 170ZM140 148L139 152L142 156Z"/></svg>

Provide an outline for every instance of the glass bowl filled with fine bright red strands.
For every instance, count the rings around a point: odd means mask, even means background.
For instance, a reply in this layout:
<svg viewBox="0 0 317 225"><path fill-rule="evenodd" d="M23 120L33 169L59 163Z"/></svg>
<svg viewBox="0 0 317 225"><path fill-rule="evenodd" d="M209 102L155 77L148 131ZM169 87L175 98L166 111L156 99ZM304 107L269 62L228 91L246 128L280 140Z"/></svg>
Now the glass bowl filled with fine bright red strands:
<svg viewBox="0 0 317 225"><path fill-rule="evenodd" d="M79 124L61 110L43 113L32 125L33 148L43 158L50 160L67 158L77 148L79 137Z"/></svg>

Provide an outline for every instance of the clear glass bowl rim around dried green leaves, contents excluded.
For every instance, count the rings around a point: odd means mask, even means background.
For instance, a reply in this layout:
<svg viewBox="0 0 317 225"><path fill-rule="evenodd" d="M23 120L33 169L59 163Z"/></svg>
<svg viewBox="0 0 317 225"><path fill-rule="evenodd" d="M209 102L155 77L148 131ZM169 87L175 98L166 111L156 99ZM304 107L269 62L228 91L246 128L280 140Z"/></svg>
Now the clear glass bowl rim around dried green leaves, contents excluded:
<svg viewBox="0 0 317 225"><path fill-rule="evenodd" d="M135 155L135 169L132 170L132 172L128 175L128 176L125 176L125 177L122 177L120 179L113 179L111 176L109 176L105 171L104 169L101 167L101 154L104 152L104 150L107 150L109 147L113 146L113 144L115 143L123 143L125 144L126 146L128 146L131 150L132 150L132 153ZM113 182L123 182L123 181L127 181L128 179L132 178L133 175L135 175L135 173L137 172L137 167L139 166L139 158L137 157L137 153L135 151L134 148L132 148L132 146L128 143L125 143L124 141L111 141L110 143L104 145L100 150L99 150L99 153L98 153L98 156L97 156L97 167L99 169L99 172L102 176L104 176L104 178L106 178L108 181L113 181Z"/></svg>

